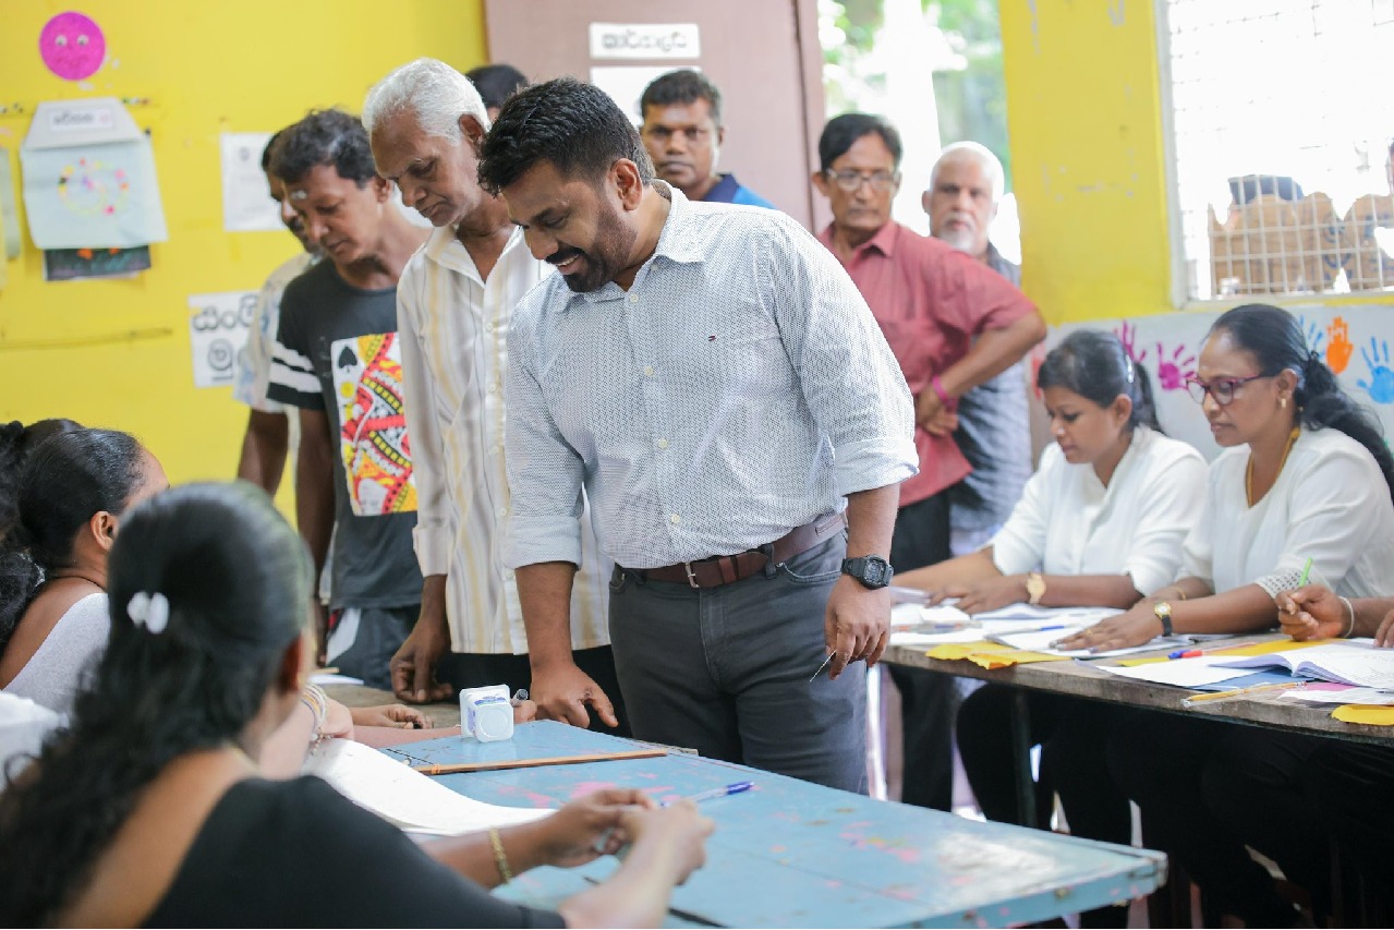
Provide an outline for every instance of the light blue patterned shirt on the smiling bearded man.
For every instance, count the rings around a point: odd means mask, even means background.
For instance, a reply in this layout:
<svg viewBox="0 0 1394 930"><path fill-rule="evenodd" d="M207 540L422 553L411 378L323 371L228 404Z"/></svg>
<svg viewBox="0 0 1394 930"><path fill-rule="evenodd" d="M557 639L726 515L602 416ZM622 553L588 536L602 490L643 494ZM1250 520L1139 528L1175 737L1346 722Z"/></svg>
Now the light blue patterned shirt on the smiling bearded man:
<svg viewBox="0 0 1394 930"><path fill-rule="evenodd" d="M753 206L672 209L629 291L549 275L513 314L505 562L730 555L913 475L914 407L838 261Z"/></svg>

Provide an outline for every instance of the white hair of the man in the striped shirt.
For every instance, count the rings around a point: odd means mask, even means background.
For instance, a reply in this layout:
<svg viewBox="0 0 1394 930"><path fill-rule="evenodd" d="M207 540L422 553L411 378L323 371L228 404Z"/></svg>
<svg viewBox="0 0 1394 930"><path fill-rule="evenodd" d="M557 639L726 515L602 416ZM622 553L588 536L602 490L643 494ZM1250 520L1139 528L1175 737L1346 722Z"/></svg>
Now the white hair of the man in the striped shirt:
<svg viewBox="0 0 1394 930"><path fill-rule="evenodd" d="M485 130L489 114L480 92L445 61L417 59L378 81L362 102L362 127L371 138L383 120L410 113L428 135L459 142L460 117L473 116Z"/></svg>

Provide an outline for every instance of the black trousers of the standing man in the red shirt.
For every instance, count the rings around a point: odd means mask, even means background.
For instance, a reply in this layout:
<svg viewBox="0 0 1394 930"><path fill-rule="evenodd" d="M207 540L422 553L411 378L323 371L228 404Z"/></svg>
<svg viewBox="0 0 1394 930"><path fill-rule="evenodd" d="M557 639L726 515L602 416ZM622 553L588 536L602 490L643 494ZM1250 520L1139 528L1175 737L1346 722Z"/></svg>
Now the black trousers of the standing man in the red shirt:
<svg viewBox="0 0 1394 930"><path fill-rule="evenodd" d="M891 540L891 567L920 569L949 558L948 491L901 508ZM948 675L888 665L901 692L905 775L901 800L948 810L953 805L953 717L959 693Z"/></svg>

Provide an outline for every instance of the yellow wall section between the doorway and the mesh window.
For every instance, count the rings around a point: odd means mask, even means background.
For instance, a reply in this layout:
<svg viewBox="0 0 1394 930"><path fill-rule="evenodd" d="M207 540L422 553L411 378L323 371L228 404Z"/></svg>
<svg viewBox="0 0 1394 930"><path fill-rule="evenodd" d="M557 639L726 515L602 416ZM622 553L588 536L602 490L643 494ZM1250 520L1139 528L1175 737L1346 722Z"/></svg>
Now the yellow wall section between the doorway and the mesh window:
<svg viewBox="0 0 1394 930"><path fill-rule="evenodd" d="M1151 0L1001 0L1022 277L1051 323L1172 310Z"/></svg>

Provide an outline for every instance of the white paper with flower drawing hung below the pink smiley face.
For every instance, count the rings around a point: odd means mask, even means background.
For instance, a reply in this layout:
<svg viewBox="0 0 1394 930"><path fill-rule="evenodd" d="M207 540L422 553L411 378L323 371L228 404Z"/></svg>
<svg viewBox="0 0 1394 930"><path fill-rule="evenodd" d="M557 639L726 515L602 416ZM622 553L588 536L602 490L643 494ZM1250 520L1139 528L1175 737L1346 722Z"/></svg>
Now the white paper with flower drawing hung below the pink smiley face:
<svg viewBox="0 0 1394 930"><path fill-rule="evenodd" d="M29 237L50 248L169 238L151 141L116 98L45 102L20 146Z"/></svg>

